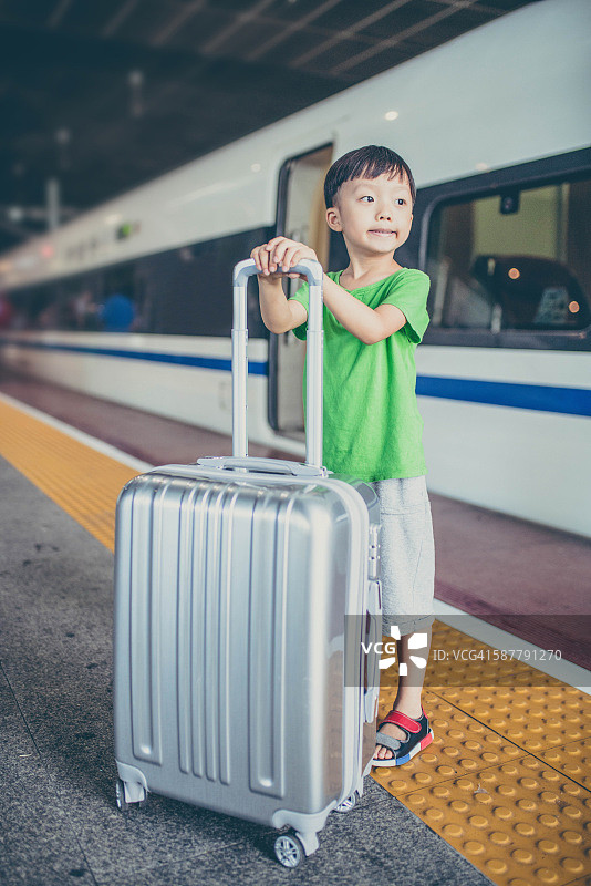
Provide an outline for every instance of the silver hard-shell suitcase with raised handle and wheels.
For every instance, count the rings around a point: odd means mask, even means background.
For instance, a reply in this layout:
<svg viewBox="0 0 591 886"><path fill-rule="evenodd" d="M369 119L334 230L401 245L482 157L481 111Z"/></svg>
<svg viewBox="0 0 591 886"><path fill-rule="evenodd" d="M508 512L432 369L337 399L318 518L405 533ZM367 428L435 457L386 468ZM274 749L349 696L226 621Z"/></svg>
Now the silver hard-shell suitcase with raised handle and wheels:
<svg viewBox="0 0 591 886"><path fill-rule="evenodd" d="M231 457L122 491L115 546L117 804L148 792L276 828L288 867L363 792L375 745L379 505L322 467L322 269L310 281L307 462L247 455L235 268Z"/></svg>

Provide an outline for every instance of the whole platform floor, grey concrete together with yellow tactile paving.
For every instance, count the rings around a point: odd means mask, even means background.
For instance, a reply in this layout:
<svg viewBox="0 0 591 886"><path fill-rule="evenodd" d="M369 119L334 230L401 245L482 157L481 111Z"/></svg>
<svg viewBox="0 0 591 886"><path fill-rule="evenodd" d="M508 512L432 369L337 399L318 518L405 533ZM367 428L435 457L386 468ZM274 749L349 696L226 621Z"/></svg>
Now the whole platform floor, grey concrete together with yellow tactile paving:
<svg viewBox="0 0 591 886"><path fill-rule="evenodd" d="M490 661L471 666L478 686L431 684L434 744L367 779L296 872L278 866L266 828L152 795L120 813L110 496L136 468L0 405L0 883L591 883L591 700L523 663L506 687ZM442 624L435 637L458 642Z"/></svg>

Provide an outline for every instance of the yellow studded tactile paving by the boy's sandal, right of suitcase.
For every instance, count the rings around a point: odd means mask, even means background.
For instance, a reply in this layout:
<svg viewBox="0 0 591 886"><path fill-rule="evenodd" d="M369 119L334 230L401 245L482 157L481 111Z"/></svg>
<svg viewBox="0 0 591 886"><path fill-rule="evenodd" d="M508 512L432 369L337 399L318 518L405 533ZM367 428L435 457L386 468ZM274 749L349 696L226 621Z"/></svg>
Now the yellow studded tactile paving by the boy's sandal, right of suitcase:
<svg viewBox="0 0 591 886"><path fill-rule="evenodd" d="M433 744L374 779L499 886L591 886L591 698L437 621L432 648L485 655L433 666Z"/></svg>

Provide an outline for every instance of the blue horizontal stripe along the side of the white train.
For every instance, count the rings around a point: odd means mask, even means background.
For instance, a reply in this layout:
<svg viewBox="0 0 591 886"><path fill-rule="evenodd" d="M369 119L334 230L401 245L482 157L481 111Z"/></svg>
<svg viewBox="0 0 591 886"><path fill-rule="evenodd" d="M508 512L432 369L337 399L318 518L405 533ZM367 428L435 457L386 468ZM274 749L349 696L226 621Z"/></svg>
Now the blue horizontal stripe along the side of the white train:
<svg viewBox="0 0 591 886"><path fill-rule="evenodd" d="M126 360L148 360L156 363L173 363L174 365L196 367L198 369L216 369L221 372L230 372L231 370L231 361L219 357L191 357L189 354L131 351L117 348L91 348L81 344L52 344L50 342L25 341L8 337L0 337L1 344L98 354L101 357L118 357ZM251 375L268 375L269 363L262 360L249 360L248 371ZM539 412L591 416L591 390L585 388L553 388L547 384L518 384L514 382L418 375L416 392L419 396L434 396L443 400L459 400L494 406L511 406L514 409L530 409Z"/></svg>

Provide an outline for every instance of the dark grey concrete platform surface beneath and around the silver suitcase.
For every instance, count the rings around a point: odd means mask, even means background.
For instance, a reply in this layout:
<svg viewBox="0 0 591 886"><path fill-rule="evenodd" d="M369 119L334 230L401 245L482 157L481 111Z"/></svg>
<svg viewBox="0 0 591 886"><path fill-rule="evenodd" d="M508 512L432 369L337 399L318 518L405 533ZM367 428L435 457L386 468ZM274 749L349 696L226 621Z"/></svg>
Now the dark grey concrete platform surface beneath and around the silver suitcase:
<svg viewBox="0 0 591 886"><path fill-rule="evenodd" d="M293 872L271 830L155 795L121 813L113 557L3 460L0 488L2 886L490 883L372 779Z"/></svg>

